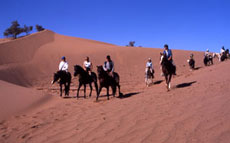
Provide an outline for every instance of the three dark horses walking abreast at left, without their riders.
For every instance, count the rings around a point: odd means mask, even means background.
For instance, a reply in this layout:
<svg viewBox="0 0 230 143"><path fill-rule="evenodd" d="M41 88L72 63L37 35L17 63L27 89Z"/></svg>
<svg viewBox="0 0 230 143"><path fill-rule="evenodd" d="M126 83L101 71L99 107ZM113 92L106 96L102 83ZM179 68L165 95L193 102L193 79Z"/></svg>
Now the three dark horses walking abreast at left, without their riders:
<svg viewBox="0 0 230 143"><path fill-rule="evenodd" d="M74 77L78 76L78 89L77 89L77 98L79 98L79 91L82 85L84 86L84 98L86 98L86 85L90 87L89 97L92 95L92 83L94 83L95 91L97 94L96 100L98 101L99 95L101 93L102 88L107 89L107 99L109 100L109 87L112 88L113 96L116 95L116 90L118 88L119 97L122 96L120 91L120 77L119 74L114 72L113 76L110 76L104 69L103 66L97 66L97 73L91 72L90 74L85 71L81 66L74 66ZM65 87L65 96L69 96L70 84L72 80L72 75L70 72L66 71L57 71L54 73L52 84L55 82L59 83L60 86L60 96L62 96L62 87ZM99 88L97 81L99 80Z"/></svg>

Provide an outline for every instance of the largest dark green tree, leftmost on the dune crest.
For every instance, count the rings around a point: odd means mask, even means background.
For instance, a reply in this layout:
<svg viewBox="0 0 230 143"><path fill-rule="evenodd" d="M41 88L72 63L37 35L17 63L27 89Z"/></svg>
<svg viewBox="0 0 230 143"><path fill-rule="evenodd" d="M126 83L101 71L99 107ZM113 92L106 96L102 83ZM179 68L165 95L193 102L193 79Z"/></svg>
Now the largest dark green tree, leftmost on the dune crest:
<svg viewBox="0 0 230 143"><path fill-rule="evenodd" d="M23 29L20 28L20 24L18 24L18 21L13 21L11 23L11 26L5 30L4 36L12 36L14 39L16 39L17 35L21 34L22 32Z"/></svg>

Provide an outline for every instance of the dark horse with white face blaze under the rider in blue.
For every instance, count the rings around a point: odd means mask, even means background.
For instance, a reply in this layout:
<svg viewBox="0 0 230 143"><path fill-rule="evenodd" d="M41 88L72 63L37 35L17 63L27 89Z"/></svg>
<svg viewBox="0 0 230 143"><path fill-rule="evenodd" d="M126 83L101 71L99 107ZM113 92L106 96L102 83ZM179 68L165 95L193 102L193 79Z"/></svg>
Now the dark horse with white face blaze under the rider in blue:
<svg viewBox="0 0 230 143"><path fill-rule="evenodd" d="M166 86L167 90L169 91L170 87L170 82L172 75L176 73L176 66L172 64L167 58L167 56L164 54L161 57L161 66L162 66L162 72L164 73L165 76L165 81L166 81Z"/></svg>

